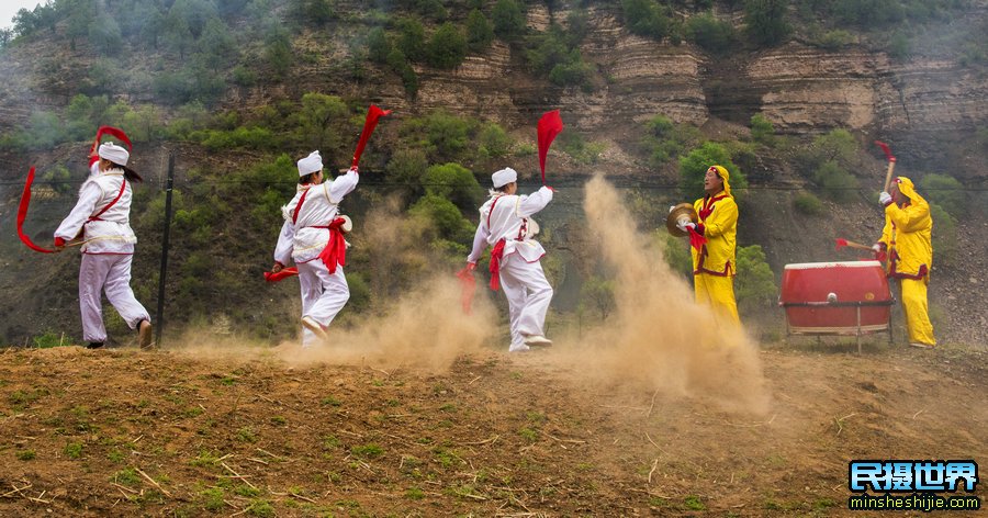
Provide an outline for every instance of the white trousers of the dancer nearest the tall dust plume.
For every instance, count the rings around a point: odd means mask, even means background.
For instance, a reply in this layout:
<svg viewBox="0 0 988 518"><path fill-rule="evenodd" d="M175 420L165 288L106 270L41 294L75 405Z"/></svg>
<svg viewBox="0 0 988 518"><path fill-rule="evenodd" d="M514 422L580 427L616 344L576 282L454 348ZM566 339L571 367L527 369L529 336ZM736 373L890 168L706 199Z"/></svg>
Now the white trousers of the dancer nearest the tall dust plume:
<svg viewBox="0 0 988 518"><path fill-rule="evenodd" d="M501 262L501 289L508 300L512 348L525 344L526 335L544 335L546 313L552 302L552 286L539 261L526 262L512 254Z"/></svg>

